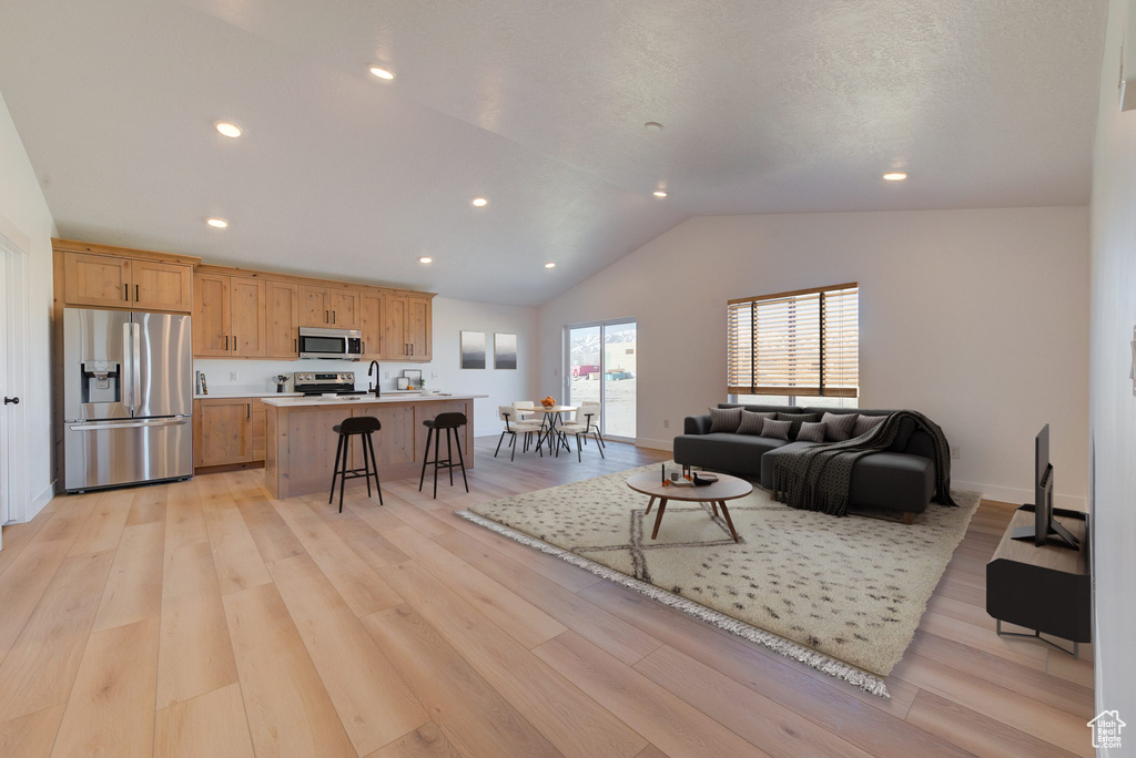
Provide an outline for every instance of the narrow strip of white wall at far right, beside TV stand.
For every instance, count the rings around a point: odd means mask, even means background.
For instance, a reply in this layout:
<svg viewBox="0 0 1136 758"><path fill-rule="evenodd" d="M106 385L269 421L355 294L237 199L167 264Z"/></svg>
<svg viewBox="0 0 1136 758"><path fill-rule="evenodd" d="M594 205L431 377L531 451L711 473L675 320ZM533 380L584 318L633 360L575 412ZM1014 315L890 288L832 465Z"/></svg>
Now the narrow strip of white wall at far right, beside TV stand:
<svg viewBox="0 0 1136 758"><path fill-rule="evenodd" d="M1093 160L1092 356L1093 581L1097 710L1119 709L1136 744L1136 112L1117 108L1127 2L1109 8ZM1125 41L1125 47L1136 40ZM1134 750L1129 744L1129 750ZM1121 755L1117 751L1117 755ZM1126 752L1122 755L1131 755Z"/></svg>

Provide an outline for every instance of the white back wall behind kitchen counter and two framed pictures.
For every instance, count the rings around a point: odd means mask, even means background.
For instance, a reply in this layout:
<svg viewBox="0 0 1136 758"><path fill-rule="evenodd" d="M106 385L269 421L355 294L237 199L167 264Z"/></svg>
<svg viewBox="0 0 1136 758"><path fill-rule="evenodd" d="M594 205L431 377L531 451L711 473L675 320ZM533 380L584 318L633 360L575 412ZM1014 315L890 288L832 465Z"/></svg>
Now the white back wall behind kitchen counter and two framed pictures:
<svg viewBox="0 0 1136 758"><path fill-rule="evenodd" d="M501 422L496 418L498 405L509 405L518 399L532 399L535 378L536 309L513 305L493 305L474 303L446 297L434 298L434 359L431 363L395 363L384 362L382 370L383 389L394 389L396 377L403 369L419 369L426 380L427 389L438 389L443 393L461 393L468 395L488 395L485 399L474 401L474 433L477 436L498 435ZM461 369L458 351L459 332L484 331L486 340L486 368ZM517 335L517 369L498 370L493 368L493 334L508 332ZM269 377L278 373L292 374L296 371L310 371L317 368L321 371L354 371L356 387L366 389L368 386L368 363L350 363L348 361L248 361L248 360L206 360L193 362L194 369L204 371L209 382L210 394L233 394L241 391L274 391L275 385ZM229 379L229 372L236 371L237 379ZM433 376L437 374L434 379ZM291 385L290 385L291 388Z"/></svg>

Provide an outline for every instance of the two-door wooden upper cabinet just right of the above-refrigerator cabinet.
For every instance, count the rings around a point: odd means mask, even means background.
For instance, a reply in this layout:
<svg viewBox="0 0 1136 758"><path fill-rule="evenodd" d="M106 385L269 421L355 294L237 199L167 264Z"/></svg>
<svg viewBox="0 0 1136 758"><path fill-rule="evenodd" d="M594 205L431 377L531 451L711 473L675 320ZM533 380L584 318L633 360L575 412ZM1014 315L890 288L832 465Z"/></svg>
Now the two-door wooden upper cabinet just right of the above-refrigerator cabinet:
<svg viewBox="0 0 1136 758"><path fill-rule="evenodd" d="M193 355L264 357L264 280L206 272L193 281Z"/></svg>

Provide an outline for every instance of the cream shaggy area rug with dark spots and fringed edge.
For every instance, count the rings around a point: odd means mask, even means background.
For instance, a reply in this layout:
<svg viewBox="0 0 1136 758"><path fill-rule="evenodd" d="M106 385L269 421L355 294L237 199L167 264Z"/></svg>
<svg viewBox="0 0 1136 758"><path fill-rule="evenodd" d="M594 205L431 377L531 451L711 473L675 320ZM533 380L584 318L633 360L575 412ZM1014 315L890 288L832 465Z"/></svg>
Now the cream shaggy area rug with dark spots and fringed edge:
<svg viewBox="0 0 1136 758"><path fill-rule="evenodd" d="M735 544L710 506L655 512L627 478L654 466L483 503L469 521L680 608L874 694L903 657L978 507L932 504L916 523L797 511L754 488L729 502ZM655 469L657 470L657 469Z"/></svg>

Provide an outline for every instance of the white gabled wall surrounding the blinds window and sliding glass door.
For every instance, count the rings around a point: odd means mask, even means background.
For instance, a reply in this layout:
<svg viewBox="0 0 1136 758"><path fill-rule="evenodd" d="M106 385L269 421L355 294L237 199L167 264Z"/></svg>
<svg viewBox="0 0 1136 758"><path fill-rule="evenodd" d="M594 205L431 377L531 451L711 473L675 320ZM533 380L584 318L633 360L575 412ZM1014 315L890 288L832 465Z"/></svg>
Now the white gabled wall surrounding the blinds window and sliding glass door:
<svg viewBox="0 0 1136 758"><path fill-rule="evenodd" d="M563 325L636 318L638 441L669 447L725 399L727 300L846 281L861 407L922 411L961 448L955 485L1009 502L1033 499L1049 422L1056 492L1084 506L1086 208L691 219L541 308L537 394L562 393Z"/></svg>

